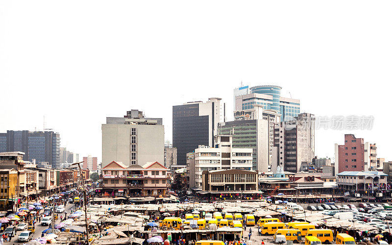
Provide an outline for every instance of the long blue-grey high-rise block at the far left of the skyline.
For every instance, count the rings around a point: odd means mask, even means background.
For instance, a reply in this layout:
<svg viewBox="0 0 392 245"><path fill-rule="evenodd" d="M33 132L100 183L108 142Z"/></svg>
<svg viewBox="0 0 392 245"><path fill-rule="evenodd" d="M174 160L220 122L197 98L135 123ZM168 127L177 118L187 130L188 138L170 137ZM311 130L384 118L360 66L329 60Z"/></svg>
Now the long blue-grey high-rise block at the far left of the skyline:
<svg viewBox="0 0 392 245"><path fill-rule="evenodd" d="M53 168L60 163L60 134L53 131L28 130L0 133L0 152L21 151L25 152L24 161L37 164L48 162Z"/></svg>

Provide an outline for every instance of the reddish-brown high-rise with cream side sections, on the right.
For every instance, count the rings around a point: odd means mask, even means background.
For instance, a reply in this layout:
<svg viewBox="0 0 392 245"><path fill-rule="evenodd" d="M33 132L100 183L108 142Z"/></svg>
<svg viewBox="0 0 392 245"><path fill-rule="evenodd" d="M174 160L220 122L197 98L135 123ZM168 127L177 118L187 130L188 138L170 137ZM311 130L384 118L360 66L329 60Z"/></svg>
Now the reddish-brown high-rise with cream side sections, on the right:
<svg viewBox="0 0 392 245"><path fill-rule="evenodd" d="M377 155L371 147L375 144L356 138L353 134L344 135L344 145L335 144L335 174L344 171L368 171L370 161ZM377 164L377 163L376 163Z"/></svg>

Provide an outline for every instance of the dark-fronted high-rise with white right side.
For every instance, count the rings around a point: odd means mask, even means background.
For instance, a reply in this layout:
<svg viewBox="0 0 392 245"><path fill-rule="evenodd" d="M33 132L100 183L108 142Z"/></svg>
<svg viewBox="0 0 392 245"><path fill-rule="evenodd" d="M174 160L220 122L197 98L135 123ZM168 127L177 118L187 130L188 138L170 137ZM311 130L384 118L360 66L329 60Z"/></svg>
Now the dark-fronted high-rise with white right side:
<svg viewBox="0 0 392 245"><path fill-rule="evenodd" d="M173 147L177 148L177 165L186 165L186 154L199 145L212 147L218 123L225 121L225 104L221 98L173 106Z"/></svg>

